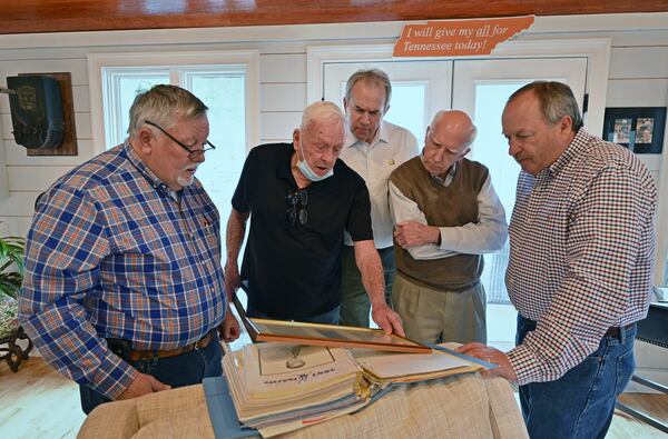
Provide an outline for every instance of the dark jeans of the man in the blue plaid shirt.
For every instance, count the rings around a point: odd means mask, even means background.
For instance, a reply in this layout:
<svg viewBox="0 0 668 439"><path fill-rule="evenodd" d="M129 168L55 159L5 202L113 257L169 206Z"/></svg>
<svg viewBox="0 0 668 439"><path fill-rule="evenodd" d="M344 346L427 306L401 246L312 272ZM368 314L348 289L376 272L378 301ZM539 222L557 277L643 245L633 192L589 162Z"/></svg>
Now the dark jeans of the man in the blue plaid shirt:
<svg viewBox="0 0 668 439"><path fill-rule="evenodd" d="M217 333L217 331L216 331ZM218 336L204 349L195 349L180 356L132 361L124 358L141 373L150 375L158 381L174 387L197 385L203 378L223 375L223 349ZM88 386L79 386L81 409L86 415L110 399Z"/></svg>

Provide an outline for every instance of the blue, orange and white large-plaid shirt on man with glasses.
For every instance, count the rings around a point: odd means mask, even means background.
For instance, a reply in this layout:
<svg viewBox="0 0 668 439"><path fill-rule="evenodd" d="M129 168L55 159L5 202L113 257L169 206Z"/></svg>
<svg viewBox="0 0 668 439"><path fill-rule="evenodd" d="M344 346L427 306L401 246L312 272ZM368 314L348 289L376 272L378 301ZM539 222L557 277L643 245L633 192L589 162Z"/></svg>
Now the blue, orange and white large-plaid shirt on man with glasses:
<svg viewBox="0 0 668 439"><path fill-rule="evenodd" d="M193 343L226 310L220 220L199 181L179 201L126 142L60 178L38 201L20 320L45 359L110 398L137 371L134 349Z"/></svg>

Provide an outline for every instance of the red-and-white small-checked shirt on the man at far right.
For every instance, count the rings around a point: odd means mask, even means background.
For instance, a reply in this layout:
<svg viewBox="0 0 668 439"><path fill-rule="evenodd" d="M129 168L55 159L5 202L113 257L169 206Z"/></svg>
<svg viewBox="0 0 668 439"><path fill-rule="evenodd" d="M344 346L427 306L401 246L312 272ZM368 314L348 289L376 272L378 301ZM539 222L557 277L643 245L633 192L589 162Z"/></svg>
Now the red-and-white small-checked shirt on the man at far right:
<svg viewBox="0 0 668 439"><path fill-rule="evenodd" d="M560 378L608 328L645 318L656 207L645 166L583 129L549 168L520 173L505 283L518 311L538 322L509 352L520 385Z"/></svg>

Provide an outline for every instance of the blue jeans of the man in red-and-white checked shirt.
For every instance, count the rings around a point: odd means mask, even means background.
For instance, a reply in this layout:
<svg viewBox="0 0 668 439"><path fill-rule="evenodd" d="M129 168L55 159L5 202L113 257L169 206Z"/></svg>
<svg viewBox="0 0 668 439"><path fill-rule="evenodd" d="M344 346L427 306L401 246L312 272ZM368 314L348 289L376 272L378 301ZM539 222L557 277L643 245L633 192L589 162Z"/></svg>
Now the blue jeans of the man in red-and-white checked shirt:
<svg viewBox="0 0 668 439"><path fill-rule="evenodd" d="M518 345L536 322L518 315ZM635 368L636 325L603 337L599 348L554 381L520 386L520 403L531 438L605 438L615 402Z"/></svg>

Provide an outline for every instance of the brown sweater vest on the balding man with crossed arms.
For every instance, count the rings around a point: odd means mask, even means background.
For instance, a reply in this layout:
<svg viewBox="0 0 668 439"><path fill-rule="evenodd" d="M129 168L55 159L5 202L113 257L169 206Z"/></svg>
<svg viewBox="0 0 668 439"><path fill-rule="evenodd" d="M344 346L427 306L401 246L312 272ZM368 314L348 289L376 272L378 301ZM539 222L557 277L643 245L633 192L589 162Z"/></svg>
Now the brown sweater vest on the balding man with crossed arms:
<svg viewBox="0 0 668 439"><path fill-rule="evenodd" d="M478 193L489 170L477 161L462 159L449 186L433 179L420 157L406 161L390 180L415 201L430 226L458 227L478 222ZM465 289L480 280L483 260L480 255L455 255L432 260L413 259L394 240L396 269L406 279L423 287L442 290Z"/></svg>

